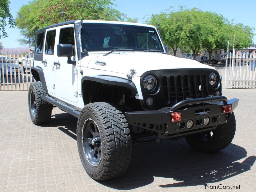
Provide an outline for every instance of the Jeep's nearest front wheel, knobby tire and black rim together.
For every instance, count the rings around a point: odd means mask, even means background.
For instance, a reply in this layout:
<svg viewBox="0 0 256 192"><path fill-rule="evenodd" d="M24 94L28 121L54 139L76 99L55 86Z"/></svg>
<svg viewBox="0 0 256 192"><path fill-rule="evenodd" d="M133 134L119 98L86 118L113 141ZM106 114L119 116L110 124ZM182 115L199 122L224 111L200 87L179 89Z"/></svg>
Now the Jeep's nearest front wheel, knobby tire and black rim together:
<svg viewBox="0 0 256 192"><path fill-rule="evenodd" d="M123 174L131 160L131 135L124 114L111 104L84 106L77 121L77 147L87 174L107 180Z"/></svg>

